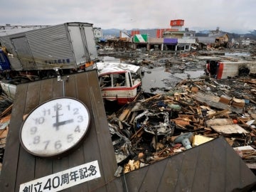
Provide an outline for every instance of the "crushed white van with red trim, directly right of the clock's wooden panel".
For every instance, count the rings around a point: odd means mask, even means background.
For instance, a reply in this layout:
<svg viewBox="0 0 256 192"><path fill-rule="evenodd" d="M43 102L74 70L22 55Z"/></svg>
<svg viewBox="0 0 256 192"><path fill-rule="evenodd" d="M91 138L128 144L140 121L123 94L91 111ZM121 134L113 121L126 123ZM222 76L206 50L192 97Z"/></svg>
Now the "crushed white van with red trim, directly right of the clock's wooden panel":
<svg viewBox="0 0 256 192"><path fill-rule="evenodd" d="M132 102L141 89L140 67L127 63L96 63L103 100Z"/></svg>

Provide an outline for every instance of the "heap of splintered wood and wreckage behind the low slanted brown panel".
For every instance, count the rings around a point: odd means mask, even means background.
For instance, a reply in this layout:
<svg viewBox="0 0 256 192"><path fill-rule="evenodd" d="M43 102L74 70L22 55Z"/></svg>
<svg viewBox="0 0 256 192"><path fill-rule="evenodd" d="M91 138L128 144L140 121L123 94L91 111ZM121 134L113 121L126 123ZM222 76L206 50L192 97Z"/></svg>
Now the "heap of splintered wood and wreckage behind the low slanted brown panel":
<svg viewBox="0 0 256 192"><path fill-rule="evenodd" d="M165 93L141 92L107 116L118 165L127 173L225 137L255 167L255 86L246 78L188 78Z"/></svg>

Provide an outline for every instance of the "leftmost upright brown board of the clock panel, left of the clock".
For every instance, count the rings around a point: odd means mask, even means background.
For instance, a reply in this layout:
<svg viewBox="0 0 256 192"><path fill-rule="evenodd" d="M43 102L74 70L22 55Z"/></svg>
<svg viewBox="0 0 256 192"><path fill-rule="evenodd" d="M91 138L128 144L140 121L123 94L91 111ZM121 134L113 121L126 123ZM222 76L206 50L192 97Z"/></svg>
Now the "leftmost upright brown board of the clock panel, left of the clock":
<svg viewBox="0 0 256 192"><path fill-rule="evenodd" d="M18 151L20 148L19 127L23 122L23 112L26 101L27 85L21 84L16 89L16 99L14 100L14 109L12 116L15 117L11 120L9 126L9 133L6 140L6 150L4 152L4 162L1 170L0 191L9 192L16 191L16 171L18 166Z"/></svg>

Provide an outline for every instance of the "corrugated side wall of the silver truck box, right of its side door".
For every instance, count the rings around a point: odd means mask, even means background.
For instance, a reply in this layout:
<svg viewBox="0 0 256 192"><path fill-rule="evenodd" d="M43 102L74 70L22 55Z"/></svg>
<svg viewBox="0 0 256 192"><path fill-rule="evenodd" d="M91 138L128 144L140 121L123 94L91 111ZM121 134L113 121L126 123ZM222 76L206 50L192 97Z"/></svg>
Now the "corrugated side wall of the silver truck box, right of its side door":
<svg viewBox="0 0 256 192"><path fill-rule="evenodd" d="M46 63L54 65L62 63L63 60L65 63L69 60L70 65L75 65L73 48L67 38L65 25L28 31L26 38L39 69L44 68Z"/></svg>

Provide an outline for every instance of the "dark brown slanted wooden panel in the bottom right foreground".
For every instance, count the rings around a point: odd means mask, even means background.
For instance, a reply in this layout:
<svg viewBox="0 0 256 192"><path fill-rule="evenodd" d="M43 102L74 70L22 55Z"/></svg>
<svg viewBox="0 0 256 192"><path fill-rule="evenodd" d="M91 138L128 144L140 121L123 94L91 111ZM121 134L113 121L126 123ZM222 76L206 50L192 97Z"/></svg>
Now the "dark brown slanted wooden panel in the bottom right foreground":
<svg viewBox="0 0 256 192"><path fill-rule="evenodd" d="M149 174L149 166L157 164L165 167L164 172ZM141 191L145 177L151 177L153 183L154 178L161 178L157 190L148 191L249 191L256 184L255 174L223 137L149 166L125 174L129 191Z"/></svg>

